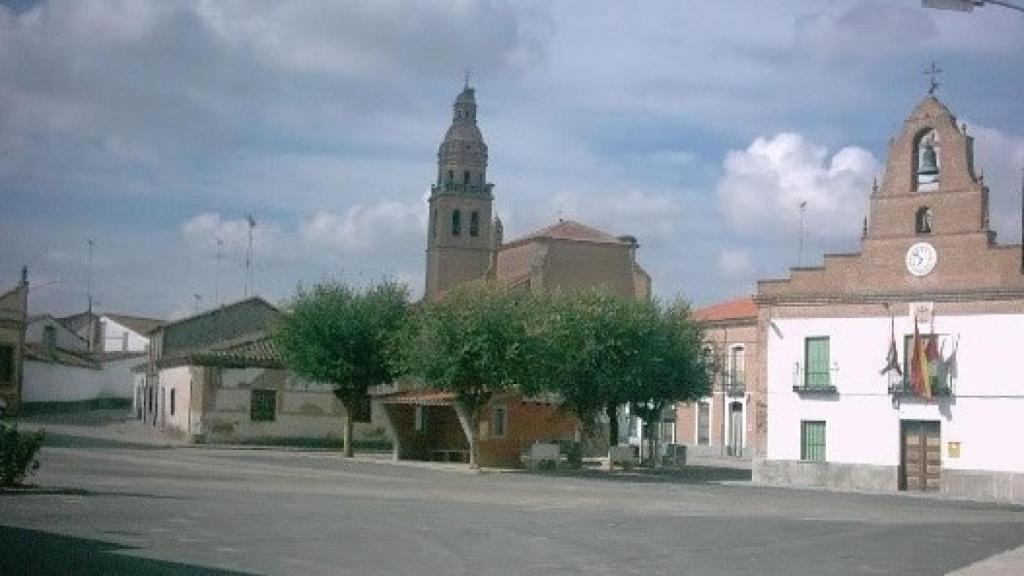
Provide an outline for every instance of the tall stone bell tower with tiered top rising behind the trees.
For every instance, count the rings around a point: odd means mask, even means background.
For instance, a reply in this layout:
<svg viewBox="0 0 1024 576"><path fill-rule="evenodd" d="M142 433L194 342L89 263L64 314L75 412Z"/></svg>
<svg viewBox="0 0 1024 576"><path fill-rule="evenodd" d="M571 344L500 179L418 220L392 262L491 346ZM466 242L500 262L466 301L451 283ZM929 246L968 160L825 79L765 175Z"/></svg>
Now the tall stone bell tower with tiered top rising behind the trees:
<svg viewBox="0 0 1024 576"><path fill-rule="evenodd" d="M476 96L467 83L453 106L452 126L437 151L437 180L430 187L427 298L487 272L494 184L486 174L487 145L476 126Z"/></svg>

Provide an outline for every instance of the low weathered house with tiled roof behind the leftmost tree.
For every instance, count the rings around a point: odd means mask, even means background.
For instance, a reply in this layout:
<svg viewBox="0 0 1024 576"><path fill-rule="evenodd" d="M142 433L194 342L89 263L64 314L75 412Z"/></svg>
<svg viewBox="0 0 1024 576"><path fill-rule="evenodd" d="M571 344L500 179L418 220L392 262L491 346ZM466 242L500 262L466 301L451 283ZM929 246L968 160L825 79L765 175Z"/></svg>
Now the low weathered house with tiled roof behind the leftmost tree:
<svg viewBox="0 0 1024 576"><path fill-rule="evenodd" d="M345 409L332 386L302 380L282 362L270 337L282 314L252 297L151 330L137 393L143 421L194 442L340 439ZM369 413L357 421L357 438L381 428Z"/></svg>

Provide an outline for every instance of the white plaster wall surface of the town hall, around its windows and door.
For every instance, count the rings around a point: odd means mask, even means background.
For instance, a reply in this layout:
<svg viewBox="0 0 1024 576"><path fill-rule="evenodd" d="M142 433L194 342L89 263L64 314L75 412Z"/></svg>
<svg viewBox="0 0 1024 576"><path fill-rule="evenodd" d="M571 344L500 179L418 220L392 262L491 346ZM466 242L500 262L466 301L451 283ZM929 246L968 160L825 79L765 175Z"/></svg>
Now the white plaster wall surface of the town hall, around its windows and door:
<svg viewBox="0 0 1024 576"><path fill-rule="evenodd" d="M1024 315L937 317L935 332L959 337L958 374L952 399L904 399L895 407L888 394L885 366L889 317L778 319L767 334L768 459L800 459L800 421L826 422L826 459L831 462L899 464L899 423L941 422L942 466L1024 472L1024 452L1014 450L1012 422L1024 414L1024 382L1015 368L1020 357ZM924 324L922 332L931 326ZM902 337L912 320L896 318L896 341L903 362ZM804 338L829 336L830 359L838 366L836 395L793 390L794 366L804 362ZM945 355L950 353L947 345ZM959 458L949 458L947 443L961 442Z"/></svg>

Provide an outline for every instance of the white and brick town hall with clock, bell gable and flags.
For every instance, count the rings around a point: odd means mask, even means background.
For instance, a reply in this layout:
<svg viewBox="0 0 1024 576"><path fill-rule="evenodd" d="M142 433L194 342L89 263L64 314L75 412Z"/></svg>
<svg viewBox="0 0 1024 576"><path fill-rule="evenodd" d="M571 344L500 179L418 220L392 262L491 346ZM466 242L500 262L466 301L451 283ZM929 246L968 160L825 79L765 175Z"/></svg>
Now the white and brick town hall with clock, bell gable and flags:
<svg viewBox="0 0 1024 576"><path fill-rule="evenodd" d="M929 94L891 141L860 251L759 282L755 481L1024 500L1024 262L988 195L967 126Z"/></svg>

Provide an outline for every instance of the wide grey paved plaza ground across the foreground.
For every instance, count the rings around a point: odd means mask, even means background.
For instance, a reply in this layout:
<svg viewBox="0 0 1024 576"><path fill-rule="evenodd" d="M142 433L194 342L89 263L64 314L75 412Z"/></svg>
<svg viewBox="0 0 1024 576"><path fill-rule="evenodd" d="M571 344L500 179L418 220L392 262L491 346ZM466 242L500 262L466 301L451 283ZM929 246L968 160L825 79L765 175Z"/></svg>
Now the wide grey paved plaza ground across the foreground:
<svg viewBox="0 0 1024 576"><path fill-rule="evenodd" d="M939 575L990 557L965 573L1021 573L1020 507L759 488L741 470L470 474L48 425L40 489L0 494L0 574ZM90 425L102 431L78 434Z"/></svg>

